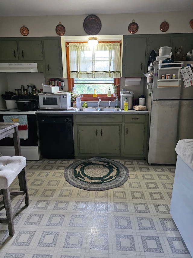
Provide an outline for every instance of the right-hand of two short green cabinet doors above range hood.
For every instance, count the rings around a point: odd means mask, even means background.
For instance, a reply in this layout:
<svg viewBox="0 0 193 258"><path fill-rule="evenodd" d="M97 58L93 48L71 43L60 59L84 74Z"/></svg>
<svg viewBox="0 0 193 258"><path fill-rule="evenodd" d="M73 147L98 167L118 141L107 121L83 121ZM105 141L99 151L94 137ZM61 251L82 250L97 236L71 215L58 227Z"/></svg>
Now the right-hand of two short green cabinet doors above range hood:
<svg viewBox="0 0 193 258"><path fill-rule="evenodd" d="M42 41L18 41L20 60L43 60Z"/></svg>

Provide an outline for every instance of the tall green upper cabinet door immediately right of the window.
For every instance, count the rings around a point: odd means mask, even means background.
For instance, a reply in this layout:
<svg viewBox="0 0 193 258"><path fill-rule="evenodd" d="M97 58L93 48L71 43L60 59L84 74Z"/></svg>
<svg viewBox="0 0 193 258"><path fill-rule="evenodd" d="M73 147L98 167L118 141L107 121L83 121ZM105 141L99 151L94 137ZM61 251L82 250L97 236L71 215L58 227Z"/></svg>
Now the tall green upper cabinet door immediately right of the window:
<svg viewBox="0 0 193 258"><path fill-rule="evenodd" d="M122 77L144 76L147 65L146 56L146 37L127 37L123 38L123 65Z"/></svg>

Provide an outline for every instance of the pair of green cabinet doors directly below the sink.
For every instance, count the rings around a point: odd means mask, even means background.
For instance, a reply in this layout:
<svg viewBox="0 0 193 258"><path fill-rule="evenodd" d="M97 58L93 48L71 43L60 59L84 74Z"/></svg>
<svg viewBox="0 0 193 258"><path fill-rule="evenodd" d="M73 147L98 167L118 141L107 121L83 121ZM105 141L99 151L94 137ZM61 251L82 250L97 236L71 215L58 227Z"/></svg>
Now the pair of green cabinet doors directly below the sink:
<svg viewBox="0 0 193 258"><path fill-rule="evenodd" d="M120 155L120 125L77 125L77 129L78 155Z"/></svg>

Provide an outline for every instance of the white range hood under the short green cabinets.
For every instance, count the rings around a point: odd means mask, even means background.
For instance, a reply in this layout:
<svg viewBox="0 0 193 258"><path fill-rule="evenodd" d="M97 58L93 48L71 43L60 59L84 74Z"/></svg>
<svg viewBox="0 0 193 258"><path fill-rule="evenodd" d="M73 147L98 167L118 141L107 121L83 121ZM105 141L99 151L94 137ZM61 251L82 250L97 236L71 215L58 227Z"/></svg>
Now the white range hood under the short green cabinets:
<svg viewBox="0 0 193 258"><path fill-rule="evenodd" d="M17 72L17 73L37 73L37 64L36 63L7 63L0 64L0 72Z"/></svg>

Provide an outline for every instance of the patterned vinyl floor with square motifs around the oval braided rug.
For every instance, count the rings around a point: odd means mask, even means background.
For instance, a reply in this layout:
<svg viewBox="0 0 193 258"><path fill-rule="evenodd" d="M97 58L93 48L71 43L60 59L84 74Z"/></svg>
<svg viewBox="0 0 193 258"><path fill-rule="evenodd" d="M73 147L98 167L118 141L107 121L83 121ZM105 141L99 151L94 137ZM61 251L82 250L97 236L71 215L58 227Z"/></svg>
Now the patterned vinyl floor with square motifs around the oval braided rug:
<svg viewBox="0 0 193 258"><path fill-rule="evenodd" d="M119 160L130 174L124 185L86 191L65 180L71 162L27 161L30 205L15 217L13 237L0 224L0 257L191 258L169 214L174 166Z"/></svg>

